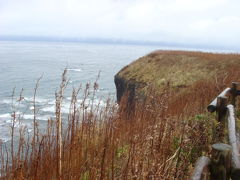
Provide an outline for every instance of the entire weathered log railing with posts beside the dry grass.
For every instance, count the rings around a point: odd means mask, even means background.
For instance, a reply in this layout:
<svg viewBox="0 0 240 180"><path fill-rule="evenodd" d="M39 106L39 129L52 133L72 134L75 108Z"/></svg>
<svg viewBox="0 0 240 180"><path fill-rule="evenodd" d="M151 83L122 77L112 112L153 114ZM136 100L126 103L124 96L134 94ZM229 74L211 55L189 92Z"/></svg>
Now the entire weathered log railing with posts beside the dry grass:
<svg viewBox="0 0 240 180"><path fill-rule="evenodd" d="M233 82L232 88L226 88L207 107L211 113L216 111L218 143L212 145L210 158L202 156L197 160L191 180L240 180L240 144L234 114L236 97L240 95L237 86ZM223 143L226 140L228 144Z"/></svg>

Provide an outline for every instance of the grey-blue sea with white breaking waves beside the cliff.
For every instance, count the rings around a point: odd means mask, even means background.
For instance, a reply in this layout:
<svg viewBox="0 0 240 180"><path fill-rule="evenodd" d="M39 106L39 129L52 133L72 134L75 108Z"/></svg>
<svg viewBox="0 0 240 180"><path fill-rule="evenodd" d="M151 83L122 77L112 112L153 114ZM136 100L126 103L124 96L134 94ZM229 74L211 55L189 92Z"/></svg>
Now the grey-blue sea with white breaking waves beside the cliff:
<svg viewBox="0 0 240 180"><path fill-rule="evenodd" d="M0 140L8 141L12 122L12 92L15 111L21 117L17 127L27 126L29 132L33 119L33 94L39 77L37 91L37 120L46 124L55 112L55 91L61 81L61 74L68 69L68 88L64 95L63 113L68 113L73 87L94 83L98 80L99 91L96 103L104 106L107 97L115 99L114 75L124 66L156 49L177 49L173 47L148 45L91 44L71 42L25 42L0 41ZM183 48L178 48L183 49ZM18 98L23 89L23 100Z"/></svg>

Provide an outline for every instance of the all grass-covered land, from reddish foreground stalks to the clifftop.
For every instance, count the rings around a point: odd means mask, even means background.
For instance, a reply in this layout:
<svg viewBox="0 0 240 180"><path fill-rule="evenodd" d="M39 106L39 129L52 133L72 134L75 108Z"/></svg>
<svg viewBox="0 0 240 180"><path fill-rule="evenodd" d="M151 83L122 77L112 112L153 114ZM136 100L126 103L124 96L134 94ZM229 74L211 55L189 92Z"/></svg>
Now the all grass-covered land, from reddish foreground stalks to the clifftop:
<svg viewBox="0 0 240 180"><path fill-rule="evenodd" d="M2 179L188 179L196 159L215 141L217 123L206 106L239 81L239 62L236 54L156 51L117 74L124 90L118 106L85 101L94 99L98 88L94 83L91 91L87 84L73 90L66 119L61 117L64 74L56 118L46 131L39 133L34 122L33 138L24 138L22 129L14 150L0 144ZM134 101L134 110L127 103L129 84L135 84L133 95L144 96ZM59 131L61 122L67 124ZM12 139L14 128L13 123Z"/></svg>

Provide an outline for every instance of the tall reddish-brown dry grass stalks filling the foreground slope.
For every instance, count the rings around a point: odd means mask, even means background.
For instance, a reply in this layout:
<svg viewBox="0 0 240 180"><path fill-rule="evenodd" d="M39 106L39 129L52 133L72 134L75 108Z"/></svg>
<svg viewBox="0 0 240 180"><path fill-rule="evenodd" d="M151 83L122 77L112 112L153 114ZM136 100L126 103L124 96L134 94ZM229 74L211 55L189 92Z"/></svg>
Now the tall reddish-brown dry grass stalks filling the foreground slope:
<svg viewBox="0 0 240 180"><path fill-rule="evenodd" d="M11 145L0 143L1 179L188 179L195 160L209 153L214 141L206 105L238 80L236 72L230 69L199 81L181 94L170 85L160 93L151 88L143 101L131 106L127 95L119 105L107 99L105 107L95 106L98 84L86 84L73 89L64 117L64 71L55 118L44 131L39 131L34 110L33 134L25 128L17 132L13 111ZM20 136L14 143L16 133Z"/></svg>

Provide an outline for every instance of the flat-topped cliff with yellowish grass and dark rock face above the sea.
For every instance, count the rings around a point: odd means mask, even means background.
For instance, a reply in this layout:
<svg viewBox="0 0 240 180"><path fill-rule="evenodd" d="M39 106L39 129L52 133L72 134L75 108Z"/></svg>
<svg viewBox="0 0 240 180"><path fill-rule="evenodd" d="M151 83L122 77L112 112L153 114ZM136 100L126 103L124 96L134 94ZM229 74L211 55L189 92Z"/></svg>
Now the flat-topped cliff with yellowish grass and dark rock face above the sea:
<svg viewBox="0 0 240 180"><path fill-rule="evenodd" d="M200 80L214 80L218 73L240 67L239 54L191 51L155 51L121 69L114 77L117 100L128 93L130 100L144 96L149 86L170 84L177 92Z"/></svg>

